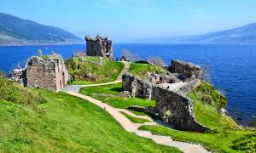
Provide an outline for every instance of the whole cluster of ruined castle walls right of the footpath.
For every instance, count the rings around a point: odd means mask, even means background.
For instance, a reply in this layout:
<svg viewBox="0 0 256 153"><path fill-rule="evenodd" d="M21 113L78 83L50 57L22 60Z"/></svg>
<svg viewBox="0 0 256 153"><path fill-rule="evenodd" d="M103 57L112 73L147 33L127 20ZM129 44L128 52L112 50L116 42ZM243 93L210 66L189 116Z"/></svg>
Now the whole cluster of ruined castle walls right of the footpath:
<svg viewBox="0 0 256 153"><path fill-rule="evenodd" d="M122 84L125 93L130 94L131 97L154 99L156 106L154 108L148 107L145 111L171 123L177 129L206 132L208 128L195 121L193 103L186 96L201 83L200 66L172 60L170 67L172 73L166 71L165 75L151 75L153 79L142 79L129 73L124 74ZM177 78L179 75L186 78L180 80ZM175 76L177 77L174 78ZM165 78L161 79L161 77Z"/></svg>

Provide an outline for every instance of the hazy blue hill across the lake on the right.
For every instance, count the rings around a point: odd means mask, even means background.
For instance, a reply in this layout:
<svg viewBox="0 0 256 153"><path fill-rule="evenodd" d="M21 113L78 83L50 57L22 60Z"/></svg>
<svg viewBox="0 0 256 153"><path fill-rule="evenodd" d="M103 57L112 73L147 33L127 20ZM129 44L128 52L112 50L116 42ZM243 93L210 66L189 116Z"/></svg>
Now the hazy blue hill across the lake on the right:
<svg viewBox="0 0 256 153"><path fill-rule="evenodd" d="M256 23L226 31L181 37L148 38L141 42L163 43L256 43Z"/></svg>

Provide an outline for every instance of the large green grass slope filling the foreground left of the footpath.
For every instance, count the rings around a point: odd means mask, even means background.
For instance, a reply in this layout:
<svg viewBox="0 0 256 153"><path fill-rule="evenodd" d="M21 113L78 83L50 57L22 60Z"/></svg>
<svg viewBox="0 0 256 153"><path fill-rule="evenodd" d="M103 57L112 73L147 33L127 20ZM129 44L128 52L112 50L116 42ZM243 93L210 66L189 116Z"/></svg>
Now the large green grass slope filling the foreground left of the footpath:
<svg viewBox="0 0 256 153"><path fill-rule="evenodd" d="M0 100L0 152L180 152L119 124L96 105L64 93L33 89L39 111Z"/></svg>

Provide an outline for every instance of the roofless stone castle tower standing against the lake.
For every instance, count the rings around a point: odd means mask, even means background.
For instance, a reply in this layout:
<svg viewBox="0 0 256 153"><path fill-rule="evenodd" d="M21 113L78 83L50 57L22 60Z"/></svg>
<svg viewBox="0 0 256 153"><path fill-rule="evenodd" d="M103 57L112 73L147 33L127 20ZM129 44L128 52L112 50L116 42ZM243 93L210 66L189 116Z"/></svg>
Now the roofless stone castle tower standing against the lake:
<svg viewBox="0 0 256 153"><path fill-rule="evenodd" d="M86 54L88 56L102 56L113 59L112 41L108 37L102 38L97 35L96 38L85 36Z"/></svg>

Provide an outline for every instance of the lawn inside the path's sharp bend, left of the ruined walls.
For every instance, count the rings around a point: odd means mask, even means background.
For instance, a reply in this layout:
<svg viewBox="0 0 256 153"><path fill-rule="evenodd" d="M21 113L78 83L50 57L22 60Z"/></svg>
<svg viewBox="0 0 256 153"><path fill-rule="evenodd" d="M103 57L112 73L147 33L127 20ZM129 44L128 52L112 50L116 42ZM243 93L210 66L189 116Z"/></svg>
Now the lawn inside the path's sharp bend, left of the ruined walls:
<svg viewBox="0 0 256 153"><path fill-rule="evenodd" d="M127 108L132 105L138 105L138 106L154 106L155 105L154 100L139 99L139 98L123 98L118 96L110 98L107 96L95 95L95 94L117 95L120 91L122 91L121 83L80 89L81 94L89 95L95 99L101 100L102 102L107 103L108 105L111 105L116 108Z"/></svg>

